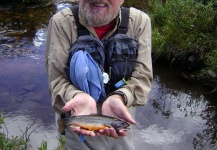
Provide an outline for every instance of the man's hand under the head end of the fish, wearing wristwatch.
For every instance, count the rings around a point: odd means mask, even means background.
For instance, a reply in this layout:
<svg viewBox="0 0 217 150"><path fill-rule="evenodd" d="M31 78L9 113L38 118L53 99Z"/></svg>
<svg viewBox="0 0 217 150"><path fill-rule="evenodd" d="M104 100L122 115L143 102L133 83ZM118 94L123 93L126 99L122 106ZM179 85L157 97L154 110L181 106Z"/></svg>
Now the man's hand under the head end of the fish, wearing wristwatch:
<svg viewBox="0 0 217 150"><path fill-rule="evenodd" d="M111 95L105 100L102 105L102 113L107 116L123 119L131 124L136 124L135 120L132 118L130 112L122 102L119 95ZM119 130L116 132L114 128L105 128L97 133L97 135L101 134L119 138L121 136L126 136L128 132L126 130Z"/></svg>

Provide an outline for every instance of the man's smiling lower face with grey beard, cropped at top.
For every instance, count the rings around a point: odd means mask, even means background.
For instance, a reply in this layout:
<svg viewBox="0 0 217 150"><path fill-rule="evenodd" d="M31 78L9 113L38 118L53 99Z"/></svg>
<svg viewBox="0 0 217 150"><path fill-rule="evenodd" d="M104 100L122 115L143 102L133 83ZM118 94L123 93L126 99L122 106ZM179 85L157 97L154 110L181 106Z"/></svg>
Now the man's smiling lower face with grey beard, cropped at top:
<svg viewBox="0 0 217 150"><path fill-rule="evenodd" d="M124 0L80 0L80 14L87 25L104 26L119 13Z"/></svg>

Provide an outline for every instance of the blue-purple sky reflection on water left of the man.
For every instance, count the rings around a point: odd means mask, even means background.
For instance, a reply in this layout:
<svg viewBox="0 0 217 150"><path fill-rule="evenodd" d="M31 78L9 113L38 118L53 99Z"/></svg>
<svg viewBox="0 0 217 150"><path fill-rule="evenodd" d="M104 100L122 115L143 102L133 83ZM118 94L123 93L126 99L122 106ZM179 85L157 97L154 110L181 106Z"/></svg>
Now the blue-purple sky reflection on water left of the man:
<svg viewBox="0 0 217 150"><path fill-rule="evenodd" d="M7 116L4 133L22 135L35 121L29 131L36 128L30 136L33 150L42 140L48 142L48 149L58 143L45 69L45 38L46 29L39 29L26 57L0 60L0 110Z"/></svg>

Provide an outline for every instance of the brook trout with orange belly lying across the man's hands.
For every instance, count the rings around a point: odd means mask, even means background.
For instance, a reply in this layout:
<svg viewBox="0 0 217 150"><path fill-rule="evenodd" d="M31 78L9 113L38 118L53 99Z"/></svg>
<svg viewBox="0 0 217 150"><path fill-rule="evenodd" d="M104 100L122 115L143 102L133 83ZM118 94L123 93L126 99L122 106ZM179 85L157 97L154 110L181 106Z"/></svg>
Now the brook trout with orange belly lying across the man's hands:
<svg viewBox="0 0 217 150"><path fill-rule="evenodd" d="M80 127L81 129L86 129L89 131L98 131L104 129L105 127L114 128L116 131L123 129L130 129L130 124L119 118L114 118L105 115L81 115L74 116L72 118L59 119L57 121L59 125L59 132L64 133L65 128L68 126Z"/></svg>

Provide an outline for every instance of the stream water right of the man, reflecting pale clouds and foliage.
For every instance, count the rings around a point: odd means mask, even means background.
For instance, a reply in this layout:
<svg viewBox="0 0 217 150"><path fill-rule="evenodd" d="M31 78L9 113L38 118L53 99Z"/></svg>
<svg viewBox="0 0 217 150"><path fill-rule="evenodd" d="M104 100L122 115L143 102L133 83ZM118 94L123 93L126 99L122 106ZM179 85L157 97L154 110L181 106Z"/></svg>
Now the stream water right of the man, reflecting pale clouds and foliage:
<svg viewBox="0 0 217 150"><path fill-rule="evenodd" d="M161 72L162 67L154 69L148 104L137 110L138 134L143 139L140 147L216 149L216 105L209 102L214 98L203 96L203 87L179 81L178 74L168 68L163 67Z"/></svg>

